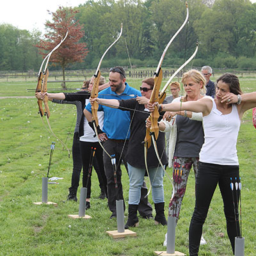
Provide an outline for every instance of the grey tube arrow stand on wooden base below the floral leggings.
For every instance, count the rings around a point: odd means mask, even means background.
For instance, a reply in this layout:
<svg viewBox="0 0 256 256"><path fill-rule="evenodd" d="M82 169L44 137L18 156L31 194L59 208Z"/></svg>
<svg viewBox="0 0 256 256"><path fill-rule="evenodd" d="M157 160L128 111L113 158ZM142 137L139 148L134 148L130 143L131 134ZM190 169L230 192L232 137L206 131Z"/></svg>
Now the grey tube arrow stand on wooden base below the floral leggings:
<svg viewBox="0 0 256 256"><path fill-rule="evenodd" d="M167 247L166 252L164 251L157 251L155 252L156 255L185 255L182 252L175 251L175 227L176 227L176 220L175 217L168 216L168 223L167 223Z"/></svg>

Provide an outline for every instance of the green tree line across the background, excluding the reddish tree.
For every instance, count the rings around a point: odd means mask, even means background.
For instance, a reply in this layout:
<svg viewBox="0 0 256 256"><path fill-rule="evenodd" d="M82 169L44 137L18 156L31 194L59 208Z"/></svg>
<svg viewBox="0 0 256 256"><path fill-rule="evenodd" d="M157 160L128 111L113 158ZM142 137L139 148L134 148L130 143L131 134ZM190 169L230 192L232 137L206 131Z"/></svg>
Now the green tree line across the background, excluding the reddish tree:
<svg viewBox="0 0 256 256"><path fill-rule="evenodd" d="M188 4L189 22L166 52L163 67L183 63L195 51L198 40L193 65L256 69L256 4L249 0L191 0ZM90 0L74 11L74 19L84 32L80 42L86 44L88 53L83 62L70 63L70 69L96 68L121 24L122 36L102 67L156 66L186 17L184 0ZM40 31L1 24L0 70L38 70L42 55L35 45L42 38Z"/></svg>

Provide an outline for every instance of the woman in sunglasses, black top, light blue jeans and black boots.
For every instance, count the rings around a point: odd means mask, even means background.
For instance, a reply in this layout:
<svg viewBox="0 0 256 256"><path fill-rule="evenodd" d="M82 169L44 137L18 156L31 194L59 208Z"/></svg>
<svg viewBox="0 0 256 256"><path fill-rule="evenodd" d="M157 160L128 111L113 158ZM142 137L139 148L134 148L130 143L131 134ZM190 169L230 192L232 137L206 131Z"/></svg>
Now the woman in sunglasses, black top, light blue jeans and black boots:
<svg viewBox="0 0 256 256"><path fill-rule="evenodd" d="M131 136L129 138L129 145L127 150L127 163L129 172L129 209L128 220L125 224L125 228L138 226L138 204L141 196L141 186L146 174L145 159L144 159L144 145L141 143L144 141L146 134L145 121L148 118L149 112L147 109L147 102L150 99L152 89L154 87L154 79L144 79L141 83L141 95L143 97L137 97L127 100L115 100L115 99L90 99L90 102L96 100L99 104L108 104L112 108L122 109L127 111L129 109L131 115ZM157 148L160 156L162 156L162 163L167 164L167 157L165 154L164 134L160 133L157 140ZM163 176L164 170L159 166L156 152L154 147L148 148L147 165L152 184L152 198L155 204L156 224L161 223L166 225L166 218L164 216L164 188L163 188Z"/></svg>

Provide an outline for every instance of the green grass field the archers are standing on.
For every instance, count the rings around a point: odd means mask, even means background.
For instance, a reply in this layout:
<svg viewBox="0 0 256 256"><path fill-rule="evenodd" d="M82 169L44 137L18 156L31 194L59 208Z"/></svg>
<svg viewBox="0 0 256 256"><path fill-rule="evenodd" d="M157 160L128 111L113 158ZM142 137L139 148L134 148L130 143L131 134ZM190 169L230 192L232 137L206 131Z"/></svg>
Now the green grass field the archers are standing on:
<svg viewBox="0 0 256 256"><path fill-rule="evenodd" d="M50 74L51 76L51 74ZM215 77L214 77L215 78ZM129 80L136 88L139 80ZM244 92L256 90L255 77L241 78ZM148 256L154 251L166 250L163 246L167 228L155 226L153 220L140 218L140 226L131 228L136 237L112 239L107 230L116 230L116 221L109 220L111 215L107 200L97 197L100 193L97 175L92 175L92 208L86 214L90 220L72 220L68 214L78 214L78 202L63 202L68 194L72 174L72 159L67 151L44 128L37 114L36 99L18 98L33 96L27 88L35 88L36 81L0 81L0 255L120 255ZM48 88L60 87L49 83ZM81 84L70 83L68 87L79 88ZM74 106L52 104L51 126L54 133L72 146L72 134L76 123ZM46 124L46 122L45 122ZM243 118L237 151L242 180L242 218L245 237L246 256L256 255L255 242L255 188L256 188L256 140L252 125L252 111ZM50 177L63 177L59 184L49 184L48 200L52 205L34 205L42 199L42 177L47 175L49 153L52 141L56 148L52 158ZM123 169L125 204L128 201L129 180ZM171 173L170 168L167 172ZM148 183L148 180L147 180ZM195 204L195 177L189 175L188 188L180 212L176 229L175 250L188 255L188 228ZM169 201L172 187L164 177L165 200ZM79 195L79 193L78 193ZM152 203L152 196L149 196ZM166 216L168 207L166 204ZM127 220L127 210L125 211ZM71 227L68 227L71 226ZM207 244L200 246L199 255L232 255L228 241L223 204L220 191L216 189L211 209L204 225L204 238Z"/></svg>

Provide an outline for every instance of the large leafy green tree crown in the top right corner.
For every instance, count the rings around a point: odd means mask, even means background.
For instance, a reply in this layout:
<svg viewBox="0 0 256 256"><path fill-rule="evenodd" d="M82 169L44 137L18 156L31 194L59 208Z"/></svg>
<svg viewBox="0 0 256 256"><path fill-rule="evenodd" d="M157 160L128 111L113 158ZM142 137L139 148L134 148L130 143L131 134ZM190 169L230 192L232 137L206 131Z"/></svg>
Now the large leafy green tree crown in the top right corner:
<svg viewBox="0 0 256 256"><path fill-rule="evenodd" d="M255 5L249 0L218 0L195 23L205 56L255 55Z"/></svg>

